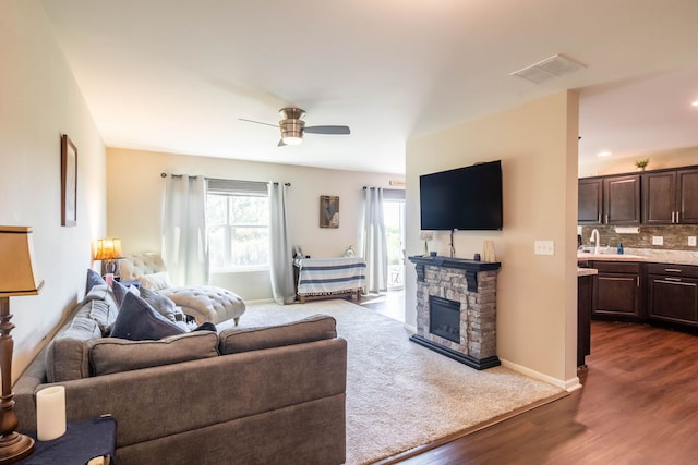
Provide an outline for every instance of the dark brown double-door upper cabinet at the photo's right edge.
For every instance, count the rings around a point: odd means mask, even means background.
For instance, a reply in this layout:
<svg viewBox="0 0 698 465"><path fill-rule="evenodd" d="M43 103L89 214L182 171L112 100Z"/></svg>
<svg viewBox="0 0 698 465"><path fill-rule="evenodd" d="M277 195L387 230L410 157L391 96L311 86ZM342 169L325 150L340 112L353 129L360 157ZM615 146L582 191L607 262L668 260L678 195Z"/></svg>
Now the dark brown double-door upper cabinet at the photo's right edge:
<svg viewBox="0 0 698 465"><path fill-rule="evenodd" d="M698 169L642 174L642 223L698 224Z"/></svg>

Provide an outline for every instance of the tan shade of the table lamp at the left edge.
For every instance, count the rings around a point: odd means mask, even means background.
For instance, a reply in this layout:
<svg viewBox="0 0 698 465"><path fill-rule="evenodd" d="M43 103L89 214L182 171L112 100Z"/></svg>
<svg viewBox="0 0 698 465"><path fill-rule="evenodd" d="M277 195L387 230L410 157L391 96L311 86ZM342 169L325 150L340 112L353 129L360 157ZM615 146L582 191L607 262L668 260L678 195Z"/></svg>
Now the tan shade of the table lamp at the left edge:
<svg viewBox="0 0 698 465"><path fill-rule="evenodd" d="M38 294L44 281L34 270L32 228L0 227L0 297Z"/></svg>

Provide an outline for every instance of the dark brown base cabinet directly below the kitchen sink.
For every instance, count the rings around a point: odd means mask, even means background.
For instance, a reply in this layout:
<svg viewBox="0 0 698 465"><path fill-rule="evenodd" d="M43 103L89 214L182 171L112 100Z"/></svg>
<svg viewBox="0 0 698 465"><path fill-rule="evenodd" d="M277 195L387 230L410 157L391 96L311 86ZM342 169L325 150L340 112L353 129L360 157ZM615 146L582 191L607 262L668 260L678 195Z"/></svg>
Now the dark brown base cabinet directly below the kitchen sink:
<svg viewBox="0 0 698 465"><path fill-rule="evenodd" d="M641 264L594 261L591 314L600 319L638 321L641 319Z"/></svg>

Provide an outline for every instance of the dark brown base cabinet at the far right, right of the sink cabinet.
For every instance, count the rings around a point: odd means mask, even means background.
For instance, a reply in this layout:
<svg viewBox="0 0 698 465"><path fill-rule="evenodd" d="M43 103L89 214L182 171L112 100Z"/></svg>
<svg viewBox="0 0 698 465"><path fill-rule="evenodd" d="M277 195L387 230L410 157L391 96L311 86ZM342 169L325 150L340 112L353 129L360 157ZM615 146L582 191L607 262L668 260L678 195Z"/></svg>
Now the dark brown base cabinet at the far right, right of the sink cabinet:
<svg viewBox="0 0 698 465"><path fill-rule="evenodd" d="M650 264L647 283L650 320L698 326L698 267Z"/></svg>

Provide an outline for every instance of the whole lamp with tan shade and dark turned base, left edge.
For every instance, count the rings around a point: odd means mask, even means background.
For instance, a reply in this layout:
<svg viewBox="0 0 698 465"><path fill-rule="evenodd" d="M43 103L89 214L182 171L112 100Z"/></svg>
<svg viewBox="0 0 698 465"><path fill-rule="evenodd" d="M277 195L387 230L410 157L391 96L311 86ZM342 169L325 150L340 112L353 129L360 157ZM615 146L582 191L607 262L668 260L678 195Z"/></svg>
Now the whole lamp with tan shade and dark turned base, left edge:
<svg viewBox="0 0 698 465"><path fill-rule="evenodd" d="M37 295L44 281L34 276L32 228L0 227L0 464L17 462L34 452L34 440L15 431L20 421L12 393L10 297Z"/></svg>

